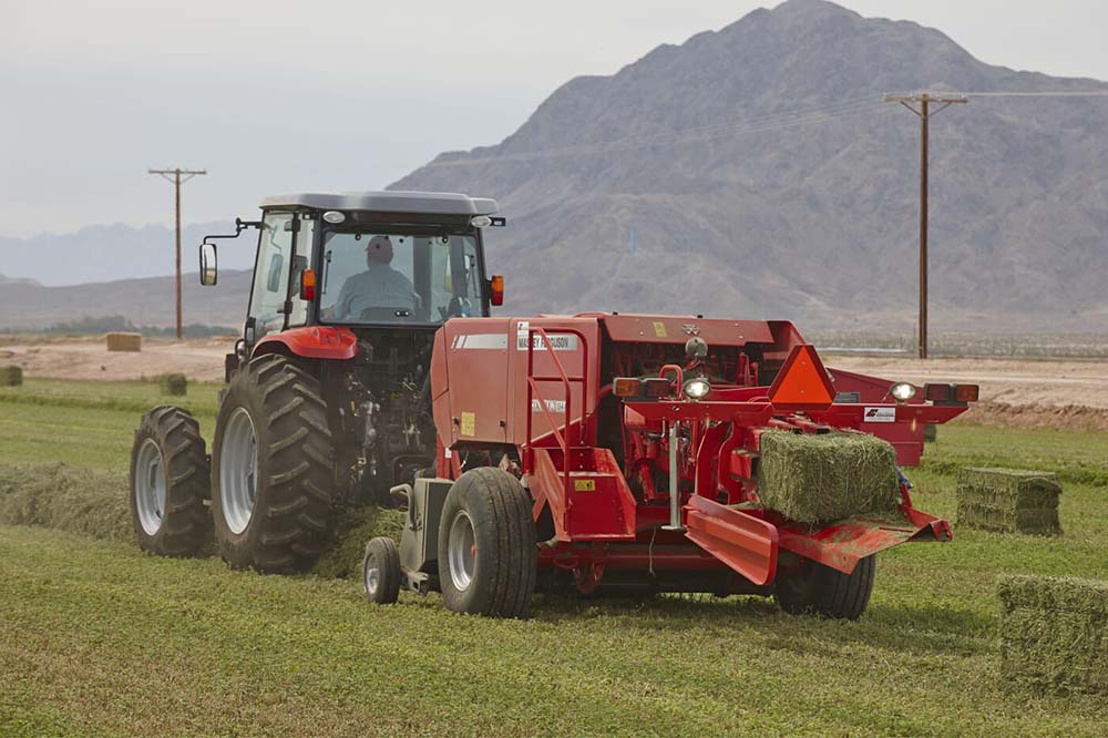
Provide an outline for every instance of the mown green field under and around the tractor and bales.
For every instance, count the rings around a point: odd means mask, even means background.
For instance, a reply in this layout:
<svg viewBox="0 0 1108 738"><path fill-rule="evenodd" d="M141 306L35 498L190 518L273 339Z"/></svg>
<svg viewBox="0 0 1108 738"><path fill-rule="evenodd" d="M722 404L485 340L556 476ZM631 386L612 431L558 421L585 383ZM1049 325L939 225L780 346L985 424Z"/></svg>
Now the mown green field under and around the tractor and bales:
<svg viewBox="0 0 1108 738"><path fill-rule="evenodd" d="M216 391L184 402L208 433ZM121 473L138 412L165 401L138 382L0 389L0 467ZM858 623L743 597L540 597L529 622L434 595L375 608L348 580L0 526L0 735L1105 735L1102 697L1006 687L995 577L1108 578L1108 433L944 428L909 471L917 506L952 516L965 463L1058 471L1065 535L955 529L881 554Z"/></svg>

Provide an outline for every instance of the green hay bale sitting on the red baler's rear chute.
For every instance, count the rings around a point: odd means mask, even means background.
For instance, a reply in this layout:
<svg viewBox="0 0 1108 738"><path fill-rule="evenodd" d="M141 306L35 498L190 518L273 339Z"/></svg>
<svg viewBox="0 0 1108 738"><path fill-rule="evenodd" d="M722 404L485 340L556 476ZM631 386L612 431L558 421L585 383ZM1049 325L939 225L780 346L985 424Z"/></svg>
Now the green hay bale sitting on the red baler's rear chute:
<svg viewBox="0 0 1108 738"><path fill-rule="evenodd" d="M767 431L758 496L801 523L888 513L901 500L896 452L866 433Z"/></svg>

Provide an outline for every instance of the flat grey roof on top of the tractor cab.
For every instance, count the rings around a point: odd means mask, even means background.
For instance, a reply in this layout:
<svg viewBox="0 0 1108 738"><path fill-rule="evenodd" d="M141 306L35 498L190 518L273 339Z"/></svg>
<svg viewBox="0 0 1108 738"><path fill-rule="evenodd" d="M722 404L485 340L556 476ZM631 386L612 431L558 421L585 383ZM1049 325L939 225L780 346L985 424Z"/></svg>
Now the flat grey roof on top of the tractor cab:
<svg viewBox="0 0 1108 738"><path fill-rule="evenodd" d="M311 207L320 211L371 211L379 213L425 213L428 215L491 215L500 209L489 197L470 197L454 192L306 192L277 195L261 201L263 208Z"/></svg>

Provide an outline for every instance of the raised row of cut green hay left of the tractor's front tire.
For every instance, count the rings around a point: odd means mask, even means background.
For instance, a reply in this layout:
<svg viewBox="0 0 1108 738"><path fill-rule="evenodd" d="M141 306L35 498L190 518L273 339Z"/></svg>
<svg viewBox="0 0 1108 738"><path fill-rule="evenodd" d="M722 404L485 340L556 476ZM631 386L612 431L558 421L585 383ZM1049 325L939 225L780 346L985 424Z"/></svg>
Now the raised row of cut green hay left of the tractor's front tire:
<svg viewBox="0 0 1108 738"><path fill-rule="evenodd" d="M134 541L124 474L51 464L0 468L0 524Z"/></svg>

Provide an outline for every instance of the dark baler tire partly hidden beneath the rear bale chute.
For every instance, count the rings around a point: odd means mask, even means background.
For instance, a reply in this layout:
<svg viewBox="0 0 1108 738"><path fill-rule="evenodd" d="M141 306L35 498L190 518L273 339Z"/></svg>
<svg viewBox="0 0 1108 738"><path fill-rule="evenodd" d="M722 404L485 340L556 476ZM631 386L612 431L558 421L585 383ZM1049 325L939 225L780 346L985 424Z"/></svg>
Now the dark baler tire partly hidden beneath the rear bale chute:
<svg viewBox="0 0 1108 738"><path fill-rule="evenodd" d="M799 570L778 578L773 596L792 615L856 621L870 604L876 567L873 555L858 562L850 574L806 560Z"/></svg>

